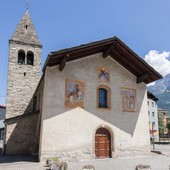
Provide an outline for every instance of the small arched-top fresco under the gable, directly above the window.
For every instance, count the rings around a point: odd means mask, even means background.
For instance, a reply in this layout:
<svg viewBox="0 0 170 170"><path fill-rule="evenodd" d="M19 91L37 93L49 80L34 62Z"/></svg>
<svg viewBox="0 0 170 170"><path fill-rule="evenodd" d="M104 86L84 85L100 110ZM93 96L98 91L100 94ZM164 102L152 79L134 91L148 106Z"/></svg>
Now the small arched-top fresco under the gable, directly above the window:
<svg viewBox="0 0 170 170"><path fill-rule="evenodd" d="M99 82L109 82L110 81L110 73L109 70L105 67L100 67L98 69L98 80Z"/></svg>

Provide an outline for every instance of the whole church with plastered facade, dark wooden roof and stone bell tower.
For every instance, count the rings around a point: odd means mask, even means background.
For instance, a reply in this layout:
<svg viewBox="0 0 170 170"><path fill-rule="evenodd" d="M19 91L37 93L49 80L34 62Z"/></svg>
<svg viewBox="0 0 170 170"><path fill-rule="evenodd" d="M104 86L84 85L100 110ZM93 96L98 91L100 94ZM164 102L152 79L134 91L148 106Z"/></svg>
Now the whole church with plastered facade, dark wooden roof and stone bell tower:
<svg viewBox="0 0 170 170"><path fill-rule="evenodd" d="M51 52L39 81L28 12L21 23L10 41L5 154L80 160L150 150L146 84L158 72L113 37Z"/></svg>

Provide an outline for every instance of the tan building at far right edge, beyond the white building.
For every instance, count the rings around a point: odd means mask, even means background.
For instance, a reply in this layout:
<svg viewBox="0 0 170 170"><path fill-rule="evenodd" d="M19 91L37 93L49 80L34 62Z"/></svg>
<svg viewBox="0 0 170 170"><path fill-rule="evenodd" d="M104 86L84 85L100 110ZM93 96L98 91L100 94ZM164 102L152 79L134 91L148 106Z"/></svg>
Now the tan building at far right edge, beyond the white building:
<svg viewBox="0 0 170 170"><path fill-rule="evenodd" d="M160 121L160 137L166 137L168 134L167 123L169 120L168 111L162 108L158 108L158 119Z"/></svg>

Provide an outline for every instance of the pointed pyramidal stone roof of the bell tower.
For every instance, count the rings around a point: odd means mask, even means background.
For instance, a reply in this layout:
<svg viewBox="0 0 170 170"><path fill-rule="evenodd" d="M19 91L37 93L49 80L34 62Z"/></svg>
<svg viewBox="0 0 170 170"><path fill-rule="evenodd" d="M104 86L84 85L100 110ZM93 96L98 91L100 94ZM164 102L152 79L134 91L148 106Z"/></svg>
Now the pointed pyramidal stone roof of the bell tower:
<svg viewBox="0 0 170 170"><path fill-rule="evenodd" d="M17 26L12 40L28 44L41 45L28 10L25 12L19 25Z"/></svg>

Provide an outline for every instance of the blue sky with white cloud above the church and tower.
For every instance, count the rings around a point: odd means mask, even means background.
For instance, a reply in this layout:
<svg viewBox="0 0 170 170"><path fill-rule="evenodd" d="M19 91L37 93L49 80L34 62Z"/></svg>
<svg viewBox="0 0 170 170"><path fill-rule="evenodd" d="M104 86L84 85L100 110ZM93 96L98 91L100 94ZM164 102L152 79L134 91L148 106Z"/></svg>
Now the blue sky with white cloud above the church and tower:
<svg viewBox="0 0 170 170"><path fill-rule="evenodd" d="M29 4L43 45L42 66L51 51L118 36L161 74L170 73L169 0L29 0ZM6 102L8 41L25 11L26 0L0 5L0 104ZM159 70L162 66L164 72Z"/></svg>

